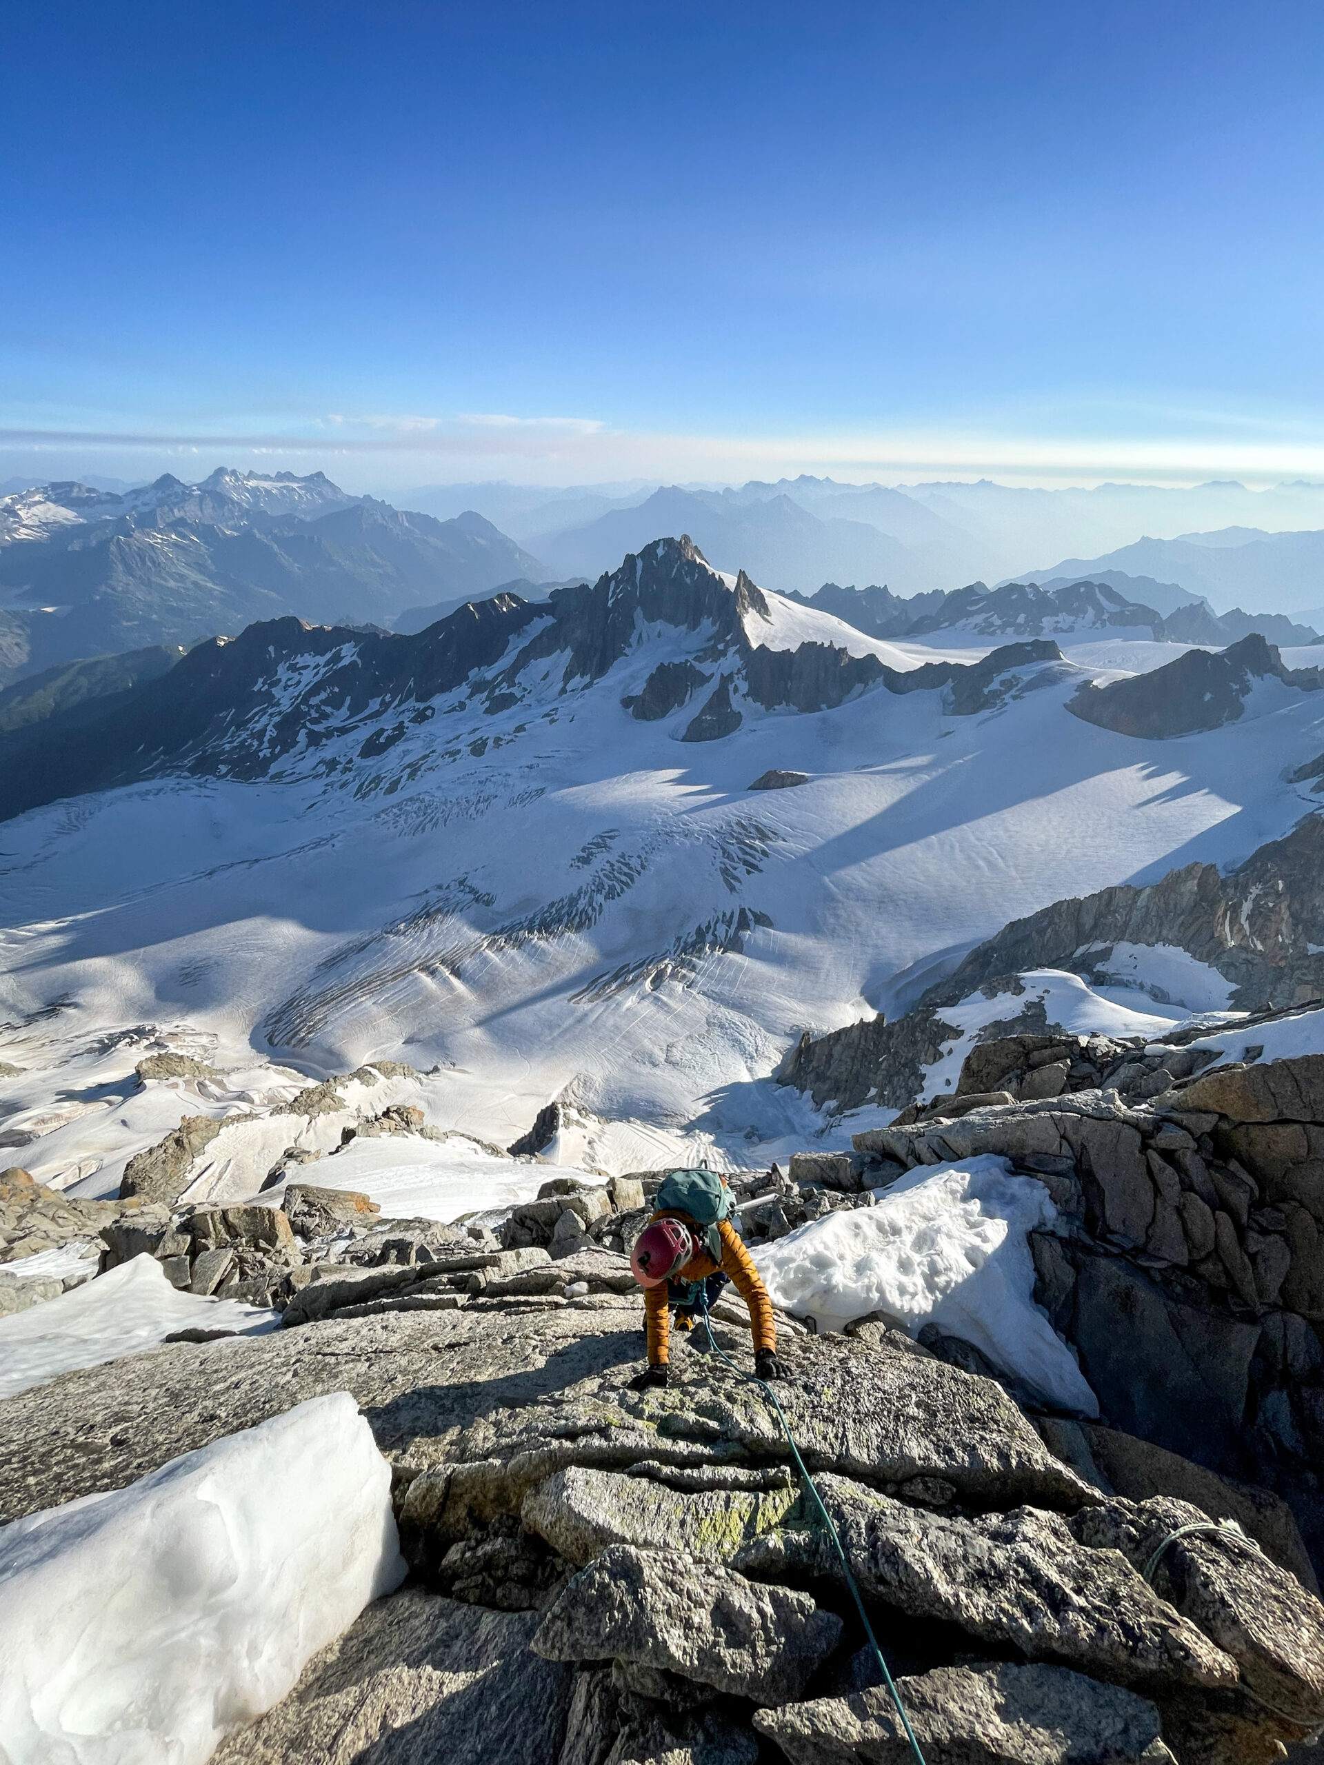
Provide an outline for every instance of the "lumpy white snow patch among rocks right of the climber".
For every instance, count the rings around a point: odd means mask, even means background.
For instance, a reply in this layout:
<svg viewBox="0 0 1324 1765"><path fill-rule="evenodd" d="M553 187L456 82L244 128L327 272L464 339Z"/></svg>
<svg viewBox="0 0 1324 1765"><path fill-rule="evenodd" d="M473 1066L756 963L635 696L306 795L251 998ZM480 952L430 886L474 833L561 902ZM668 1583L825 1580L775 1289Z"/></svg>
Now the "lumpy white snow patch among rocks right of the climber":
<svg viewBox="0 0 1324 1765"><path fill-rule="evenodd" d="M874 1207L810 1220L750 1255L773 1304L844 1329L883 1311L911 1336L937 1324L1063 1410L1098 1416L1075 1356L1034 1304L1027 1232L1057 1209L1034 1177L994 1154L923 1165Z"/></svg>

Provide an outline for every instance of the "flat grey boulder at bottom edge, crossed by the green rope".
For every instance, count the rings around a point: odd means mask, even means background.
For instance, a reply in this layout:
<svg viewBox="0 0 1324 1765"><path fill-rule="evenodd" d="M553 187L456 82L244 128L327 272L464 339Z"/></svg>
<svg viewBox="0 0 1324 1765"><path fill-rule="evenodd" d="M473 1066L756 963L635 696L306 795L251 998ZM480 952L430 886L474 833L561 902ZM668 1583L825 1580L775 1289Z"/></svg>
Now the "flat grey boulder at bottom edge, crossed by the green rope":
<svg viewBox="0 0 1324 1765"><path fill-rule="evenodd" d="M899 1680L929 1765L1170 1765L1158 1710L1061 1666L944 1666ZM756 1710L791 1765L913 1765L883 1687Z"/></svg>

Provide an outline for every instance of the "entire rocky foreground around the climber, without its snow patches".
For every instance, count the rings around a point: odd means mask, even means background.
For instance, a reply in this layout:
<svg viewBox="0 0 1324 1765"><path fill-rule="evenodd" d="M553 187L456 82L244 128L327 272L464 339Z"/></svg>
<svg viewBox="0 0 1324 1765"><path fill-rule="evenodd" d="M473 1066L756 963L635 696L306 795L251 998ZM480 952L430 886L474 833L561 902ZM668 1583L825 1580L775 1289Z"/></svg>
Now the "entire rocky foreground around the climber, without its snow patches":
<svg viewBox="0 0 1324 1765"><path fill-rule="evenodd" d="M777 1391L930 1765L1259 1765L1324 1730L1313 1472L1289 1433L1320 1389L1299 1220L1324 1061L1169 1073L1135 1101L1033 1094L1084 1052L985 1043L957 1098L736 1188L768 1239L876 1205L904 1167L1001 1151L1057 1205L1038 1297L1102 1419L1049 1414L971 1345L881 1317L831 1336L782 1318ZM147 1253L284 1327L185 1331L0 1401L0 1523L350 1391L392 1465L410 1580L217 1760L907 1760L761 1391L697 1331L669 1389L628 1389L625 1250L655 1181L551 1177L494 1225L440 1227L297 1183L281 1205L125 1195L94 1220L9 1174L11 1253L99 1230L106 1266ZM715 1336L750 1371L738 1303Z"/></svg>

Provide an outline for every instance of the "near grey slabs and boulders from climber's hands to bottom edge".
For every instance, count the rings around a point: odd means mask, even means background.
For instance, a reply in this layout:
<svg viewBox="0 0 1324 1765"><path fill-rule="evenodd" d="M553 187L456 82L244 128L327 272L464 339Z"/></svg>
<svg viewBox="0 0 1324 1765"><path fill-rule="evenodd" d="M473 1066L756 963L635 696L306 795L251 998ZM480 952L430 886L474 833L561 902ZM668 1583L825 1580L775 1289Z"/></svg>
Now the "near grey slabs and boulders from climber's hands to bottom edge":
<svg viewBox="0 0 1324 1765"><path fill-rule="evenodd" d="M754 1765L759 1733L791 1760L902 1758L763 1398L688 1347L671 1389L628 1391L639 1318L634 1294L510 1294L171 1345L0 1403L0 1498L12 1514L115 1486L350 1389L395 1465L415 1585L222 1765L475 1747ZM718 1338L749 1366L745 1333ZM779 1393L932 1765L1243 1765L1310 1733L1324 1611L1306 1590L1218 1539L1172 1544L1147 1587L1140 1558L1195 1511L1105 1497L994 1382L911 1350L793 1333Z"/></svg>

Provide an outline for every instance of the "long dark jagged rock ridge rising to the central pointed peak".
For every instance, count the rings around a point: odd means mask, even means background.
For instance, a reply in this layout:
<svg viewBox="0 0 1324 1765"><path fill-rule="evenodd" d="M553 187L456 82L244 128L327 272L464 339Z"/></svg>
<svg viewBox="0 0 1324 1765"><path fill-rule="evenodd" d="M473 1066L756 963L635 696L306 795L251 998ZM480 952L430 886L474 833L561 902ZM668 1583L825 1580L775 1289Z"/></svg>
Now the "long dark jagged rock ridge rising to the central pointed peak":
<svg viewBox="0 0 1324 1765"><path fill-rule="evenodd" d="M376 514L358 503L323 519ZM1040 641L1006 646L976 665L939 662L900 672L828 644L801 644L794 653L752 644L747 627L768 616L768 602L743 572L727 586L681 537L655 540L591 588L572 584L540 604L515 595L468 602L415 635L300 620L249 625L237 639L196 644L162 678L99 711L88 708L76 724L48 722L39 740L0 734L0 759L5 741L25 743L21 766L0 766L0 819L168 771L251 780L270 777L295 754L304 766L327 766L318 750L358 731L358 761L374 761L410 725L431 720L438 697L459 688L487 711L508 710L528 690L528 671L547 660L561 664L560 692L593 685L637 646L641 627L699 634L703 648L697 658L666 662L648 676L627 704L636 717L681 708L711 681L703 662L727 664L690 718L688 741L738 729L741 697L768 710L809 711L870 685L941 688L952 713L971 715L1045 685L1050 676L1040 664L1061 662L1056 646ZM353 759L339 757L334 766L353 766Z"/></svg>

